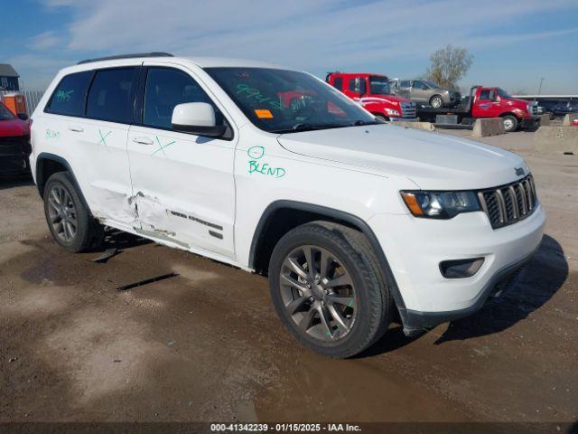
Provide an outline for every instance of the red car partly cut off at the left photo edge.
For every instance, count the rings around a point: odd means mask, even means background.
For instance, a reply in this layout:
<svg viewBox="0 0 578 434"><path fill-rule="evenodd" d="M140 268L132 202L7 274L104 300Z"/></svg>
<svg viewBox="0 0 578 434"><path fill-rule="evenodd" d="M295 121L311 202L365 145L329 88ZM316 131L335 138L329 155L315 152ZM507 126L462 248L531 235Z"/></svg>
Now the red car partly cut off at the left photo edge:
<svg viewBox="0 0 578 434"><path fill-rule="evenodd" d="M28 116L15 116L0 101L0 176L27 174L30 152Z"/></svg>

